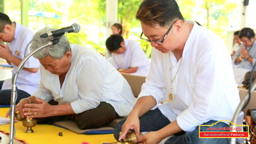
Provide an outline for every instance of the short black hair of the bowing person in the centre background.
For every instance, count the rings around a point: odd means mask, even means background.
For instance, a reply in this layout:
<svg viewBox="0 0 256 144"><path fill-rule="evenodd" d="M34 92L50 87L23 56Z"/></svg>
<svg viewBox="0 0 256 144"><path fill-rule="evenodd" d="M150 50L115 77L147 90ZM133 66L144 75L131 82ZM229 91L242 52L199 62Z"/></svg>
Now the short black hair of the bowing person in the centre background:
<svg viewBox="0 0 256 144"><path fill-rule="evenodd" d="M106 47L110 52L113 52L121 48L121 43L124 41L124 38L121 35L111 35L106 40Z"/></svg>

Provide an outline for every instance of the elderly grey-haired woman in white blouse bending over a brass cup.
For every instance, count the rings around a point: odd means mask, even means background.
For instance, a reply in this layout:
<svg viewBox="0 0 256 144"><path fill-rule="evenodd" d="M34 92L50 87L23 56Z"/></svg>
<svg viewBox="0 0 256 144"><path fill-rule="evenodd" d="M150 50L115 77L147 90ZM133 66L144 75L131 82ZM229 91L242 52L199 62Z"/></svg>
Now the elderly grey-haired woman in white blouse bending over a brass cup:
<svg viewBox="0 0 256 144"><path fill-rule="evenodd" d="M34 37L53 30L41 29ZM33 41L31 51L50 40L52 36ZM39 124L72 120L80 129L90 129L131 112L134 95L128 82L93 49L70 44L63 35L33 56L41 63L41 81L37 92L15 106L22 117L38 118Z"/></svg>

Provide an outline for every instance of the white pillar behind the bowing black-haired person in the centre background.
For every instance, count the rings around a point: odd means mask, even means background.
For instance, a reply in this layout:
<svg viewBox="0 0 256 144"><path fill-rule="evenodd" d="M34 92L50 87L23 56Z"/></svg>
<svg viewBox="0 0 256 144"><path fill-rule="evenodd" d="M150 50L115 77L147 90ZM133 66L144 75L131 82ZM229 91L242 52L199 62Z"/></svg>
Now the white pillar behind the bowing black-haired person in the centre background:
<svg viewBox="0 0 256 144"><path fill-rule="evenodd" d="M106 0L106 37L111 34L111 26L117 22L118 0ZM110 53L106 49L106 58L110 57Z"/></svg>

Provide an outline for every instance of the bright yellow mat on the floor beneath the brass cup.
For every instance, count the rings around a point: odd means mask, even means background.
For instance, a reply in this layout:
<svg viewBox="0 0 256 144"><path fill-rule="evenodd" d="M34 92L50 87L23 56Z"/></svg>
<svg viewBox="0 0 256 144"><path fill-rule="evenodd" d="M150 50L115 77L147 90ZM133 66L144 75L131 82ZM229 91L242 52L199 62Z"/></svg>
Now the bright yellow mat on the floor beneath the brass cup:
<svg viewBox="0 0 256 144"><path fill-rule="evenodd" d="M9 108L0 108L0 116L5 117ZM0 125L0 130L9 132L10 125ZM22 123L15 122L16 134L15 138L25 140L29 144L81 144L82 142L88 142L90 144L103 144L116 141L113 134L106 135L84 135L77 134L70 130L66 130L53 125L38 124L32 129L34 133L25 133L26 127L22 126ZM59 136L58 133L62 132L63 136Z"/></svg>

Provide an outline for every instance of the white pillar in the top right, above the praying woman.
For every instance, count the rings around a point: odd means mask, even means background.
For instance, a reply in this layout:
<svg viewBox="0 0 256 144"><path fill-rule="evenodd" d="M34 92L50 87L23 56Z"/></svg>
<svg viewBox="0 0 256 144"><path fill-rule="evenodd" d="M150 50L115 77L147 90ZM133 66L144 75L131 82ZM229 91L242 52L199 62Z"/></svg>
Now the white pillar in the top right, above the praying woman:
<svg viewBox="0 0 256 144"><path fill-rule="evenodd" d="M246 27L246 11L247 6L244 6L244 0L240 0L239 3L239 29L243 29Z"/></svg>

